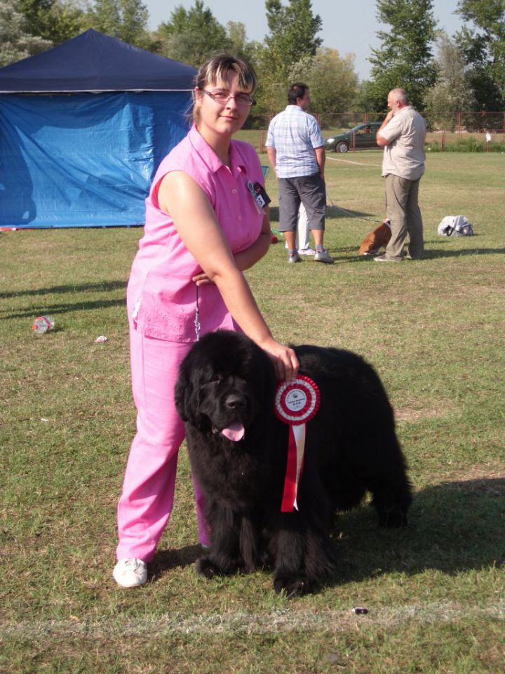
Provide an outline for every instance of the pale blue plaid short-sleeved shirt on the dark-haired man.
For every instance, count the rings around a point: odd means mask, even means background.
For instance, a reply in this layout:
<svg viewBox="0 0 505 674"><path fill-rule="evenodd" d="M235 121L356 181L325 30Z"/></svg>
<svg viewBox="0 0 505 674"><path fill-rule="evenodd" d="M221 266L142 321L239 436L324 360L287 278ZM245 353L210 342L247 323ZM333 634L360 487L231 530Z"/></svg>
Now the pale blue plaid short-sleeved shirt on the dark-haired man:
<svg viewBox="0 0 505 674"><path fill-rule="evenodd" d="M319 173L316 147L323 147L315 117L299 105L288 105L269 124L267 146L276 150L278 178L301 178Z"/></svg>

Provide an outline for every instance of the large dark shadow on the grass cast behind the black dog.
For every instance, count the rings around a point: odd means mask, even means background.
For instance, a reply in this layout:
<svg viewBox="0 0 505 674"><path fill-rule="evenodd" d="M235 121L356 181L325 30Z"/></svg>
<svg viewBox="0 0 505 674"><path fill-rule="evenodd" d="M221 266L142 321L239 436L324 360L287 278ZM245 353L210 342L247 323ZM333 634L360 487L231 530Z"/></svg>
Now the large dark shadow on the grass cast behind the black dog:
<svg viewBox="0 0 505 674"><path fill-rule="evenodd" d="M405 529L377 526L371 507L341 516L329 586L426 569L456 575L505 562L505 478L446 482L415 494Z"/></svg>

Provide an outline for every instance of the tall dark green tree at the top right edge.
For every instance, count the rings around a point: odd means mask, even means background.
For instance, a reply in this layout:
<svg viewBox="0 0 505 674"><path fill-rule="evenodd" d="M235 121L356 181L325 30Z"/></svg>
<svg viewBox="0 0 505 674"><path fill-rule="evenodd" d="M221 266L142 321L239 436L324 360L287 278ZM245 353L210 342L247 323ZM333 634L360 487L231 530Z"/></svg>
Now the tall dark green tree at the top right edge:
<svg viewBox="0 0 505 674"><path fill-rule="evenodd" d="M456 35L479 110L505 105L505 1L460 0L457 13L476 27Z"/></svg>

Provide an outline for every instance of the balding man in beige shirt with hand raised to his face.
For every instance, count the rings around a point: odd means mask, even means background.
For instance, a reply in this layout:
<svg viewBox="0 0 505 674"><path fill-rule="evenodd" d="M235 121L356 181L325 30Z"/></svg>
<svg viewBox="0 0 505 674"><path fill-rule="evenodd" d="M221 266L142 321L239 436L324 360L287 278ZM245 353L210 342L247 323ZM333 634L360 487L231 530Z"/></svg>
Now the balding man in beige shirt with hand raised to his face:
<svg viewBox="0 0 505 674"><path fill-rule="evenodd" d="M424 173L426 124L409 104L404 89L388 95L390 108L377 131L377 145L384 147L382 176L386 180L386 217L391 220L391 239L376 262L402 262L403 244L409 235L412 260L422 257L423 224L419 209L419 180Z"/></svg>

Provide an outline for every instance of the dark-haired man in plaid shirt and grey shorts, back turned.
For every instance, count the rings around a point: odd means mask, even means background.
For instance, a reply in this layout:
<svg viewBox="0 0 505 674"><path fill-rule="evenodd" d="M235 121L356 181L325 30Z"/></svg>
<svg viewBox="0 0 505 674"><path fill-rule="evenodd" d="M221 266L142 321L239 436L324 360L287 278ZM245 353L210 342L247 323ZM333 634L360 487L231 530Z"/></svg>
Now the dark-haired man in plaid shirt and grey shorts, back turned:
<svg viewBox="0 0 505 674"><path fill-rule="evenodd" d="M296 240L300 203L305 206L309 229L316 244L316 262L332 263L323 246L326 214L324 181L325 150L321 128L307 112L309 87L292 84L288 106L271 120L267 134L267 154L279 190L279 230L288 244L288 262L301 262Z"/></svg>

